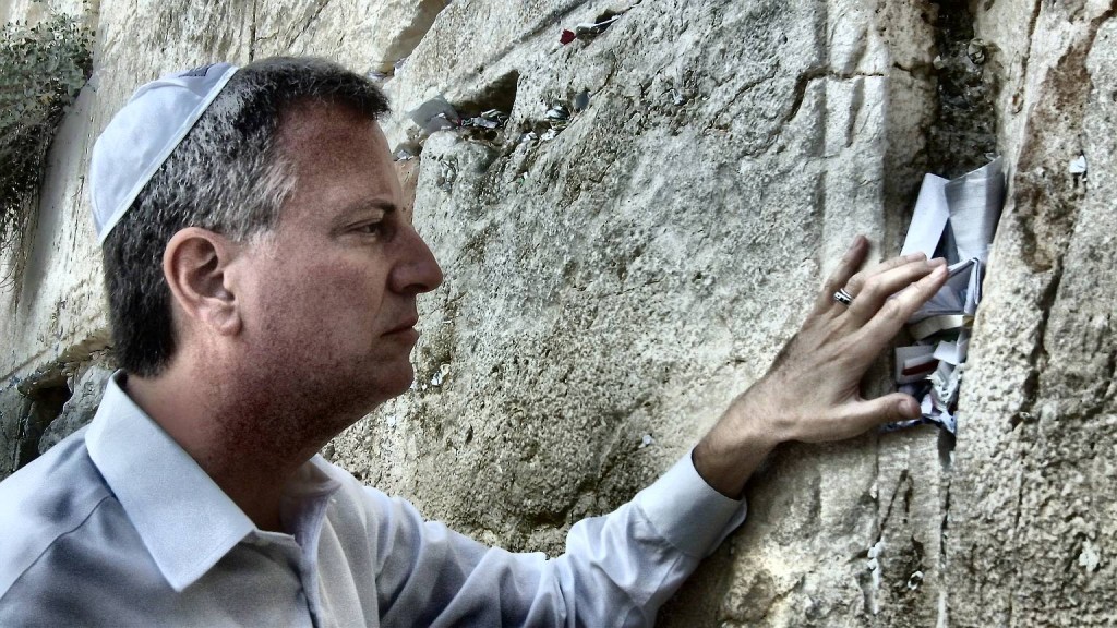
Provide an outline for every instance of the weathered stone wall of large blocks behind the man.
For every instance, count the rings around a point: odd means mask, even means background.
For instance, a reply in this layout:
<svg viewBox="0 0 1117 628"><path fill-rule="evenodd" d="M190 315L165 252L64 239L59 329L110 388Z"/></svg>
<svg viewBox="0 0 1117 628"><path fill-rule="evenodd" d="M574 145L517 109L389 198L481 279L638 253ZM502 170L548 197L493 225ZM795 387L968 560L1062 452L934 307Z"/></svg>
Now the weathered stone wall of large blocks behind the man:
<svg viewBox="0 0 1117 628"><path fill-rule="evenodd" d="M96 133L159 74L321 55L389 75L385 132L418 153L399 165L447 276L421 302L414 389L328 457L480 540L560 552L763 373L855 234L895 254L923 172L999 151L1010 199L957 440L780 451L660 624L1117 620L1111 4L21 0L0 17L49 10L96 27L96 70L0 260L18 270L0 291L0 477L87 419L111 365ZM436 96L509 120L427 135L408 114Z"/></svg>

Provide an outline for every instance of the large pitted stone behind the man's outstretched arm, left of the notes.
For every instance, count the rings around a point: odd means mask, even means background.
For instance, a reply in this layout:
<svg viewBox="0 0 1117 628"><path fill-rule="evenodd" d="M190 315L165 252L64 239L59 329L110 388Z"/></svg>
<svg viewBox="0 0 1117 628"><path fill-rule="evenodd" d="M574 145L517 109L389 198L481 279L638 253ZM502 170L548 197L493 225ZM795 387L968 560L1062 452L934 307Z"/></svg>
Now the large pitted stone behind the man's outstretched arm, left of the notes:
<svg viewBox="0 0 1117 628"><path fill-rule="evenodd" d="M906 221L911 199L889 181L911 166L888 159L918 153L933 91L894 59L929 67L930 39L873 3L646 0L562 46L560 26L617 7L540 29L457 6L389 85L397 111L513 89L506 141L427 139L416 221L447 279L420 302L417 388L331 454L484 541L557 553L572 522L629 498L762 374L855 234ZM519 34L518 46L418 74L464 31ZM891 51L911 41L925 53ZM582 91L589 106L555 139L522 136ZM405 137L408 124L385 126ZM872 436L780 456L752 489L728 575L699 574L665 624L863 625L870 602L879 625L933 622L937 437L882 443L884 464ZM866 554L882 536L877 584ZM913 537L936 555L913 559ZM907 588L911 565L926 586Z"/></svg>

